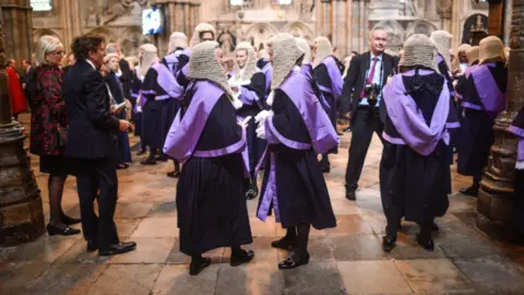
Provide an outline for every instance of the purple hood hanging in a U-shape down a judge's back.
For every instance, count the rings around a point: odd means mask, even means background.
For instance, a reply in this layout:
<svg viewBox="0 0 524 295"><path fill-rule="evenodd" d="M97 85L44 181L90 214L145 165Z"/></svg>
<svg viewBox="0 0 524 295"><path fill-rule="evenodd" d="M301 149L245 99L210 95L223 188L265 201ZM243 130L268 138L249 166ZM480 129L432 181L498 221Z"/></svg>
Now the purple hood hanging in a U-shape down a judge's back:
<svg viewBox="0 0 524 295"><path fill-rule="evenodd" d="M432 71L420 71L420 75L427 75ZM388 115L402 139L395 139L383 133L384 140L393 144L407 144L421 155L431 154L440 140L449 144L450 134L446 122L450 113L450 92L444 80L442 92L434 108L431 123L428 127L421 111L412 96L406 95L403 75L412 76L415 70L393 76L383 91L383 99Z"/></svg>

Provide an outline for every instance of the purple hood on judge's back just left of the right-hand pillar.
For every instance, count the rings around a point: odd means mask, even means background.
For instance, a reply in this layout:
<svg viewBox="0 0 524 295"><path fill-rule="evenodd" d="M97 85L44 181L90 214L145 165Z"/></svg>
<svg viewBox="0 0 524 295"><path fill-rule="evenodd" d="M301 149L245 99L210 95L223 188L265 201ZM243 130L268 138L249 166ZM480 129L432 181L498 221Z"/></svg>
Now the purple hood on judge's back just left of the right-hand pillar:
<svg viewBox="0 0 524 295"><path fill-rule="evenodd" d="M480 64L472 71L472 78L484 109L491 118L497 118L505 109L505 93L502 93L489 68L493 63Z"/></svg>

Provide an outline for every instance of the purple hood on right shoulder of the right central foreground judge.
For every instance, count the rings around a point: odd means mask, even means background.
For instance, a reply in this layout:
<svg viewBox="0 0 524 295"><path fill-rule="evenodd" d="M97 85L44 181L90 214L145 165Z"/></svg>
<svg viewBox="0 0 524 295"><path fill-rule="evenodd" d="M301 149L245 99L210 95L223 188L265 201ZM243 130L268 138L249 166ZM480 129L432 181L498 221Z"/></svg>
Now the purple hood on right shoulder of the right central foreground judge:
<svg viewBox="0 0 524 295"><path fill-rule="evenodd" d="M278 88L286 93L300 113L317 154L323 154L338 145L340 139L333 123L322 108L311 87L311 82L306 75L291 71ZM282 140L281 142L285 144Z"/></svg>

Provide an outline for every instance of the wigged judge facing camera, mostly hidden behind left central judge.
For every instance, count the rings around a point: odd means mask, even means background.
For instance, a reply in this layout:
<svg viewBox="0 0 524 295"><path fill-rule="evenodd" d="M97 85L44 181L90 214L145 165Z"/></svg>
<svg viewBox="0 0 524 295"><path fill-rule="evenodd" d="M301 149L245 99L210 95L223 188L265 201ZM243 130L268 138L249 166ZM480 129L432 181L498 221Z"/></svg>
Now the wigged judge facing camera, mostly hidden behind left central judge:
<svg viewBox="0 0 524 295"><path fill-rule="evenodd" d="M189 58L191 57L191 49L206 40L216 39L216 30L212 24L200 23L196 25L191 37L190 47L186 48L183 52L179 56L178 69L177 69L177 81L180 85L187 86L189 84L188 71L189 71Z"/></svg>

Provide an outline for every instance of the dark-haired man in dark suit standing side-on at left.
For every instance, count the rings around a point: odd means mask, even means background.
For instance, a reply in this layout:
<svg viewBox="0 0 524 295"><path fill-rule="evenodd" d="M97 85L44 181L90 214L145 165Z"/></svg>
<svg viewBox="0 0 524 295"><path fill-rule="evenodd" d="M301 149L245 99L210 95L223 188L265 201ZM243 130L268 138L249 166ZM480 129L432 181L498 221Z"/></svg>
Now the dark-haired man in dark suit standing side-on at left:
<svg viewBox="0 0 524 295"><path fill-rule="evenodd" d="M87 251L108 256L133 250L135 243L120 243L114 215L118 178L115 165L116 138L130 123L110 114L109 93L98 69L105 57L105 39L84 35L71 49L76 58L63 79L62 94L69 111L66 155L74 160L82 229ZM98 197L98 216L94 201Z"/></svg>

